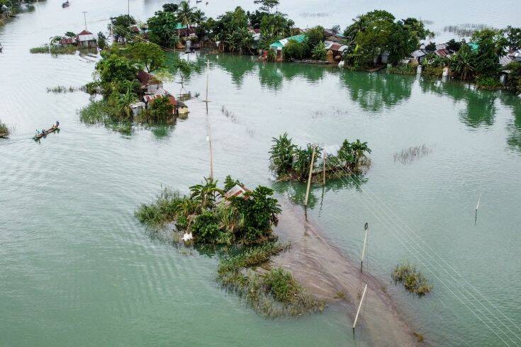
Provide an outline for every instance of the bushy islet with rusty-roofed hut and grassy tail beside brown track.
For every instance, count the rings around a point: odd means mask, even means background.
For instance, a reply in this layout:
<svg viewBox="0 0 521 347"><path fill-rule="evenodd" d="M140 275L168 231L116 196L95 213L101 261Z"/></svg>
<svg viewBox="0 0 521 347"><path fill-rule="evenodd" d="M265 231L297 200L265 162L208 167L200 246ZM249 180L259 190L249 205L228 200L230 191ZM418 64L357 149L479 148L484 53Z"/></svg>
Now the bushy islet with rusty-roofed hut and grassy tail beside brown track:
<svg viewBox="0 0 521 347"><path fill-rule="evenodd" d="M303 290L291 273L270 268L271 256L289 248L276 242L271 231L281 212L272 194L263 186L248 190L230 176L223 188L204 178L190 187L189 195L164 188L154 203L141 205L135 216L154 229L174 223L183 239L194 244L235 246L233 256L221 259L217 280L245 297L259 314L279 317L322 311L324 302Z"/></svg>

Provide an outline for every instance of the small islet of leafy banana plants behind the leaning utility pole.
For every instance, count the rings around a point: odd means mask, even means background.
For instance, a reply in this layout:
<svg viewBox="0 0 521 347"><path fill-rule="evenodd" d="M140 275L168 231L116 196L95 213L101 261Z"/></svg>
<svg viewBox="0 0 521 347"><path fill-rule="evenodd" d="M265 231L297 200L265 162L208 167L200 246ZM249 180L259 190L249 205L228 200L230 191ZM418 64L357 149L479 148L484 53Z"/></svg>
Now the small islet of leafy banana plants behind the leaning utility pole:
<svg viewBox="0 0 521 347"><path fill-rule="evenodd" d="M311 171L313 177L323 174L362 174L369 169L371 160L366 156L371 153L367 142L349 142L344 140L335 153L314 144L298 147L293 144L287 133L273 138L274 144L269 152L271 168L281 181L306 181ZM323 163L320 166L320 158ZM325 160L325 163L324 163Z"/></svg>

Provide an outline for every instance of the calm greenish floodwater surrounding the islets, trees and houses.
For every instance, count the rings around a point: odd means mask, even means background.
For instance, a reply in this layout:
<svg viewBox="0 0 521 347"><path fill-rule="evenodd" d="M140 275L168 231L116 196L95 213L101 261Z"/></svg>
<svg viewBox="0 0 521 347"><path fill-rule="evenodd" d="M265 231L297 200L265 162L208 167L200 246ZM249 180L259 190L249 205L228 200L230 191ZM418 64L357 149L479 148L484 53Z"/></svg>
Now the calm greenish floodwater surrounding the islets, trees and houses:
<svg viewBox="0 0 521 347"><path fill-rule="evenodd" d="M210 2L211 16L237 4ZM29 48L82 30L82 11L89 30L106 30L107 18L126 11L127 2L71 3L65 10L60 1L36 4L0 27L0 119L13 127L11 138L0 140L0 344L374 341L364 336L364 319L353 336L350 316L335 305L300 319L257 316L215 283L215 256L174 247L135 220L135 207L149 202L161 184L186 190L208 175L207 122L215 176L271 186L297 205L305 186L271 181L271 137L287 131L299 144L369 142L372 166L364 182L313 186L309 220L353 261L369 223L366 271L431 343L521 343L520 98L415 76L193 55L211 62L208 118L203 70L185 83L186 91L201 93L186 101L186 120L130 132L88 127L77 110L89 96L46 89L90 81L98 57L30 55ZM130 1L130 11L145 19L163 3ZM344 26L380 5L318 3L283 1L280 9L302 27ZM450 4L449 14L443 4L400 1L395 12L433 21L438 30L469 21L521 24L513 1L463 1ZM250 1L245 6L252 8ZM325 11L327 16L320 14ZM180 85L165 88L177 93ZM36 128L57 119L60 133L30 140ZM396 152L421 144L430 154L409 164L394 160ZM429 295L419 299L391 283L390 273L402 261L416 264L432 281ZM364 314L378 312L369 307Z"/></svg>

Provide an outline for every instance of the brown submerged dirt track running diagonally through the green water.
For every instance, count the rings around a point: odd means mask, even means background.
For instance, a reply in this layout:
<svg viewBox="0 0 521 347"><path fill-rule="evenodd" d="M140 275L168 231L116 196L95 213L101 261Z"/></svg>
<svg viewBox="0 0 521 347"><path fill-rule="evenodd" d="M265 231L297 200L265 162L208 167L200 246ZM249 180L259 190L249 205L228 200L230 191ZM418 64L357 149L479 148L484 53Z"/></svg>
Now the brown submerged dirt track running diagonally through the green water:
<svg viewBox="0 0 521 347"><path fill-rule="evenodd" d="M359 262L347 258L324 237L320 229L306 220L301 208L281 198L282 213L275 232L291 248L271 259L274 266L290 271L311 294L329 305L342 305L347 311L346 331L352 331L364 284L366 299L357 322L356 335L368 338L374 346L415 346L413 329L386 293L380 280L360 273Z"/></svg>

